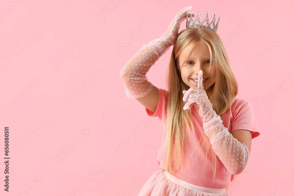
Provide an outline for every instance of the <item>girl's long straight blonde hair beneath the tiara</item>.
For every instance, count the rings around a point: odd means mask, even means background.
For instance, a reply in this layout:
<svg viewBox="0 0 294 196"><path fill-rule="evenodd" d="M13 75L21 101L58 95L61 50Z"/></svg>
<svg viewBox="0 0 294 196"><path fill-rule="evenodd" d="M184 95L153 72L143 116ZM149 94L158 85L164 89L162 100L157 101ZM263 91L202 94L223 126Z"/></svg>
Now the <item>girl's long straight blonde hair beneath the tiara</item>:
<svg viewBox="0 0 294 196"><path fill-rule="evenodd" d="M192 130L195 131L190 118L191 109L183 110L183 107L186 104L186 102L183 101L183 91L187 91L190 87L187 86L181 78L179 56L182 53L183 49L187 45L191 44L188 46L188 52L183 61L185 62L192 48L198 43L202 45L206 44L208 46L211 59L209 70L212 71L212 75L216 76L216 82L211 87L206 89L207 96L213 104L213 110L218 115L220 115L220 117L222 117L225 111L230 108L235 96L238 93L238 84L233 74L233 71L230 68L228 55L220 36L216 32L204 28L191 28L181 31L174 43L171 59L169 61L169 66L166 74L168 103L166 135L167 155L165 165L166 170L172 175L174 175L176 171L178 171L178 169L180 168L181 158L186 147L185 142L187 139L187 128L191 133ZM216 176L216 154L213 152L211 143L209 142L209 138L204 133L204 131L195 149L200 142L201 149L203 143L206 143L206 158L208 150L210 150L212 153L214 183ZM193 150L193 153L195 149ZM228 190L228 187L226 187L226 190Z"/></svg>

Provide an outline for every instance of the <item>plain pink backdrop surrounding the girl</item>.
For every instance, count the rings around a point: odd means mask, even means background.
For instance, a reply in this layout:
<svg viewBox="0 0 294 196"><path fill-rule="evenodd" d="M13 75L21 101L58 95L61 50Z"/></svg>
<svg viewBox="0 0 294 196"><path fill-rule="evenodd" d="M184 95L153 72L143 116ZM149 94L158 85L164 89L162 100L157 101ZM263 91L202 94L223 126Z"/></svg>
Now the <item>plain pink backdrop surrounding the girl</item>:
<svg viewBox="0 0 294 196"><path fill-rule="evenodd" d="M159 169L163 127L126 97L119 72L190 5L201 21L221 16L237 97L252 103L261 132L229 195L293 194L293 1L64 2L0 1L0 195L137 195ZM158 88L170 54L147 74Z"/></svg>

